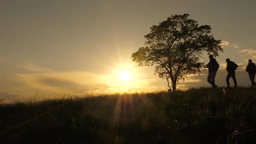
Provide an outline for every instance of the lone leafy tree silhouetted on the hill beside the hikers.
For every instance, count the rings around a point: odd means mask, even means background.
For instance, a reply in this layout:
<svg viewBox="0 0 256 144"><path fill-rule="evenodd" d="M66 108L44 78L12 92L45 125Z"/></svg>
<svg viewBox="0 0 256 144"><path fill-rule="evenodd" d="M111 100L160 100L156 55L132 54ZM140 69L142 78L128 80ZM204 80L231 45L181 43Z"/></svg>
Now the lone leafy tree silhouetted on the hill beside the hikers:
<svg viewBox="0 0 256 144"><path fill-rule="evenodd" d="M146 46L131 55L138 66L156 65L154 75L166 78L170 89L171 79L173 91L176 83L184 81L186 75L200 74L200 69L205 68L204 62L200 62L203 52L213 56L218 56L218 51L223 52L221 40L209 35L210 26L199 26L188 16L171 15L159 25L153 25L150 33L144 36Z"/></svg>

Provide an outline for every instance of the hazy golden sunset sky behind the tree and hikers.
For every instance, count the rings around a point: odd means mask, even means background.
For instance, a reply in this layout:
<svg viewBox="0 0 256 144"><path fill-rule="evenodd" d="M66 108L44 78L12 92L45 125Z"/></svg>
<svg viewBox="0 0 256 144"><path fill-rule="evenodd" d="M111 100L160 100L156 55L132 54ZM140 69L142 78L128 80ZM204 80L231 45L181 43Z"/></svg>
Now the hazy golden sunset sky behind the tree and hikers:
<svg viewBox="0 0 256 144"><path fill-rule="evenodd" d="M136 66L131 54L152 25L184 13L223 42L216 84L226 86L230 58L238 85L249 86L255 7L254 0L0 0L0 98L167 90L154 66ZM122 80L123 71L131 79ZM187 78L177 89L210 87L207 71Z"/></svg>

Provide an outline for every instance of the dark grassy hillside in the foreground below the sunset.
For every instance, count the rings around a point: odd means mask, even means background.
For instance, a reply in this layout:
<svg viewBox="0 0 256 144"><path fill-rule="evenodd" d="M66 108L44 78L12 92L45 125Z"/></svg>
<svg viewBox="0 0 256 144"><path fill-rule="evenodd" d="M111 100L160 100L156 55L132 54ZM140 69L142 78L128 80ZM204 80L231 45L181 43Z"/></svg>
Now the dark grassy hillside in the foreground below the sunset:
<svg viewBox="0 0 256 144"><path fill-rule="evenodd" d="M253 144L255 88L0 104L0 143Z"/></svg>

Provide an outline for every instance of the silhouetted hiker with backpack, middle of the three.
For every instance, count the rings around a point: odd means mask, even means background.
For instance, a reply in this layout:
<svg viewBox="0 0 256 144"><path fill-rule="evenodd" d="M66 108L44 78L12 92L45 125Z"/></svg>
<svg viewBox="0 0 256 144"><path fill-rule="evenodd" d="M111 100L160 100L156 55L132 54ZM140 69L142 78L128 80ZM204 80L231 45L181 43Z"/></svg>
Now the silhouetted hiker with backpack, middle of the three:
<svg viewBox="0 0 256 144"><path fill-rule="evenodd" d="M226 75L226 84L227 87L230 88L230 78L232 77L234 84L235 84L235 88L237 87L237 83L236 83L236 68L238 67L238 65L236 65L235 62L230 61L230 59L226 59L226 71L227 71L227 75Z"/></svg>

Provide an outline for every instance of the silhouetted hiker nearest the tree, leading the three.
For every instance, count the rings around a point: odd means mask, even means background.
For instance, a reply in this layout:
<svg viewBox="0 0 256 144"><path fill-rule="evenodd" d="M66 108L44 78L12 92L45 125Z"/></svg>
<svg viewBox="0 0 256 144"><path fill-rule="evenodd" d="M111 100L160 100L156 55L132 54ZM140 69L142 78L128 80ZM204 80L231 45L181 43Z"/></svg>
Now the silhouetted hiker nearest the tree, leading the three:
<svg viewBox="0 0 256 144"><path fill-rule="evenodd" d="M213 55L210 55L209 59L210 62L206 65L209 71L209 74L207 76L207 82L209 82L213 88L217 88L217 85L215 85L215 76L220 65L218 64L216 59L213 58Z"/></svg>

